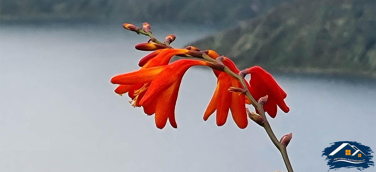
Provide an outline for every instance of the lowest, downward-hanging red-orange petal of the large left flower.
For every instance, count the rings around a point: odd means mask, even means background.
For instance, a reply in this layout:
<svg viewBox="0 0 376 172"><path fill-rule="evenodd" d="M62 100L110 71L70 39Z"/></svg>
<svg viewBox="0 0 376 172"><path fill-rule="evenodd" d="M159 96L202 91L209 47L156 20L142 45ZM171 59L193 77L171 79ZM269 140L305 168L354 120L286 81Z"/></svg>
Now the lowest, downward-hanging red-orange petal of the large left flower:
<svg viewBox="0 0 376 172"><path fill-rule="evenodd" d="M176 80L170 87L168 87L159 97L158 103L155 108L155 125L157 128L162 129L170 119L171 125L176 128L174 121L175 105L177 99L177 92L179 91L181 80ZM171 122L172 121L172 122Z"/></svg>

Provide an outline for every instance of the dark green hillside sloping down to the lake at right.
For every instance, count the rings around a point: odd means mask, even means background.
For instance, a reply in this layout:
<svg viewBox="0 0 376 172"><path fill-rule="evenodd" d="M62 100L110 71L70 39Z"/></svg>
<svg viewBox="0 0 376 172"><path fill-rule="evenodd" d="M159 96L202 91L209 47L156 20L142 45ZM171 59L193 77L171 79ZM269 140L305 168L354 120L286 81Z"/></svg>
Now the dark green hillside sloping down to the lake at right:
<svg viewBox="0 0 376 172"><path fill-rule="evenodd" d="M374 0L300 0L191 45L242 68L376 76Z"/></svg>

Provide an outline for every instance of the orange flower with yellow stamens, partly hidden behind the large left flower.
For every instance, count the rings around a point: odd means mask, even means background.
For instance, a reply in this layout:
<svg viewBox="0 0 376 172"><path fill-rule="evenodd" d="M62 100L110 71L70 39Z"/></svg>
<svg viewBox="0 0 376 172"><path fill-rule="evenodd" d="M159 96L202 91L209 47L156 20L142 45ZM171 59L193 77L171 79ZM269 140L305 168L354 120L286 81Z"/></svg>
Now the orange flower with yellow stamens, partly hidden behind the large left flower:
<svg viewBox="0 0 376 172"><path fill-rule="evenodd" d="M157 50L153 53L148 54L139 63L142 64L143 69L153 68L156 66L165 66L170 62L171 58L177 54L183 54L189 50L185 49L163 49ZM121 84L115 89L115 93L123 95L128 92L128 96L132 99L130 103L134 107L140 107L138 104L139 100L144 96L145 91L149 88L149 83L144 84Z"/></svg>

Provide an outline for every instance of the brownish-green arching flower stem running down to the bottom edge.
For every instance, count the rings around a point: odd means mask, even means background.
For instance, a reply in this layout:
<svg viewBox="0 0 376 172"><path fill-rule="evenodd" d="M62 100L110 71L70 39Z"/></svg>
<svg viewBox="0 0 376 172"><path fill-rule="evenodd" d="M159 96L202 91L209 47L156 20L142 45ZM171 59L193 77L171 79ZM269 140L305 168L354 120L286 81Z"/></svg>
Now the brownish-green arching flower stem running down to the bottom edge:
<svg viewBox="0 0 376 172"><path fill-rule="evenodd" d="M212 59L211 57L209 57L205 53L202 54L202 57L203 57L203 59L208 60L209 62L222 63L220 60ZM224 66L223 72L226 72L227 74L229 74L233 78L237 79L240 82L243 89L246 90L245 94L246 94L247 99L249 101L251 101L252 106L255 107L255 109L257 109L259 111L259 113L260 113L259 115L262 116L262 118L265 119L265 122L262 124L262 127L264 127L264 130L268 134L271 142L273 142L274 146L276 146L276 148L279 150L280 154L282 155L282 158L284 160L287 171L293 172L294 170L293 170L293 167L291 166L290 160L288 158L286 146L279 143L279 140L277 139L276 135L274 134L273 130L271 129L270 124L268 122L268 119L265 116L263 105L258 103L255 100L255 98L252 97L252 95L249 92L249 89L247 87L246 81L244 80L243 77L241 77L239 74L236 74L233 71L231 71L227 66Z"/></svg>

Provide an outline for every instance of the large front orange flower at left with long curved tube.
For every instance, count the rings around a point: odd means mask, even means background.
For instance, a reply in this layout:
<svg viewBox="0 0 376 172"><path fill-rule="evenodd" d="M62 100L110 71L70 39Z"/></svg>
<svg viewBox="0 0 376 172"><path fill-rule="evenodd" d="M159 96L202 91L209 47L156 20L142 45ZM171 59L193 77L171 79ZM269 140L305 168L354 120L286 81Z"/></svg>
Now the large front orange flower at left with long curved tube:
<svg viewBox="0 0 376 172"><path fill-rule="evenodd" d="M172 127L177 128L175 121L175 105L177 93L183 75L191 66L208 66L209 63L201 60L183 59L167 66L141 68L138 71L120 74L111 79L111 83L122 85L147 84L147 91L138 103L144 107L147 115L155 113L157 128L164 128L167 119Z"/></svg>

